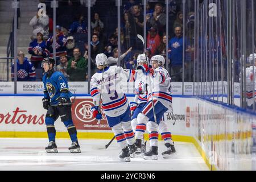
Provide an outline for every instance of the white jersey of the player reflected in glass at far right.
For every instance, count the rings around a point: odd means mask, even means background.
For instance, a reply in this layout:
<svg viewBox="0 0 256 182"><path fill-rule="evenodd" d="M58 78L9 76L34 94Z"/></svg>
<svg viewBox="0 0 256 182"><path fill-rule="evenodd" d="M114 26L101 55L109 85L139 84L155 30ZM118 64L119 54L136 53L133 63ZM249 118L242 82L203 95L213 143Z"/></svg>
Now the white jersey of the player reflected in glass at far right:
<svg viewBox="0 0 256 182"><path fill-rule="evenodd" d="M255 92L255 101L256 101L256 67L254 67L253 74L253 66L246 68L246 101L247 106L253 105L253 92ZM253 77L255 77L255 84L253 85Z"/></svg>

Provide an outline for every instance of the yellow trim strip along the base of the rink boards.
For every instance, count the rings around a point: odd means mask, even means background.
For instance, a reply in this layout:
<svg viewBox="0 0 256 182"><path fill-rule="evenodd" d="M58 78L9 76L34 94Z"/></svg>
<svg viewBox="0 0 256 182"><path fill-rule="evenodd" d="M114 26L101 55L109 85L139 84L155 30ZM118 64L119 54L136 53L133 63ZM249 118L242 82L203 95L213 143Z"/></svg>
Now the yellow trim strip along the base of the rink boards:
<svg viewBox="0 0 256 182"><path fill-rule="evenodd" d="M113 133L92 133L92 132L80 132L77 133L77 138L79 139L112 139L114 137ZM48 138L47 132L28 132L28 131L0 131L0 138ZM67 132L57 132L56 138L69 138ZM148 140L148 134L144 135L144 138ZM209 158L205 155L204 150L201 148L200 144L194 137L183 136L183 135L172 135L172 139L175 142L189 142L193 143L200 155L204 159L205 164L207 164L210 170L216 171L217 168L209 164ZM159 135L159 140L161 137Z"/></svg>

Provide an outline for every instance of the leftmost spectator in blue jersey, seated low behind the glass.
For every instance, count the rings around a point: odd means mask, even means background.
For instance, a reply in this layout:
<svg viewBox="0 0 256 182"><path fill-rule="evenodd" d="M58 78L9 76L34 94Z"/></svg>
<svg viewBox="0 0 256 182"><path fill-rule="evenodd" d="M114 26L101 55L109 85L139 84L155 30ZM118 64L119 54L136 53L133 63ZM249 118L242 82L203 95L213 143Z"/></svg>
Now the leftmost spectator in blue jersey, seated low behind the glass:
<svg viewBox="0 0 256 182"><path fill-rule="evenodd" d="M35 81L36 72L33 64L25 57L22 51L17 55L17 81ZM14 63L11 65L11 80L14 81Z"/></svg>

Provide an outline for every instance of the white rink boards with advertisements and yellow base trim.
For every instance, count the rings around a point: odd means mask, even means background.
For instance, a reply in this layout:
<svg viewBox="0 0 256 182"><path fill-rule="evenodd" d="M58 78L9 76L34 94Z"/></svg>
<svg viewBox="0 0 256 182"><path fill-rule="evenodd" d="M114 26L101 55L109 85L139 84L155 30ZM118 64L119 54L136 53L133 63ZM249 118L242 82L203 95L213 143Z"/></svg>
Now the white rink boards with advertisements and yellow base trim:
<svg viewBox="0 0 256 182"><path fill-rule="evenodd" d="M130 101L133 97L128 94ZM44 125L46 110L42 107L42 96L0 96L0 102L0 137L47 138ZM112 138L114 135L105 117L100 124L92 118L92 104L90 96L79 96L72 105L78 137ZM195 144L210 169L253 169L256 151L255 114L192 96L174 96L173 107L172 113L164 115L172 138L176 142ZM69 138L60 119L57 119L55 126L57 138Z"/></svg>

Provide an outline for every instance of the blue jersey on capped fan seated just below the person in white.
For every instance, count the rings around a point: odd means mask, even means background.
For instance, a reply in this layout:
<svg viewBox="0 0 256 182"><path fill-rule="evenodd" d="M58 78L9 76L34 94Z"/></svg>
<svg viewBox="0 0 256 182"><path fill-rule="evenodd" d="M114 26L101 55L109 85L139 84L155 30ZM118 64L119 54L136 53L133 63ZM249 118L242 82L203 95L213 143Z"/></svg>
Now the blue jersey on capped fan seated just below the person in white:
<svg viewBox="0 0 256 182"><path fill-rule="evenodd" d="M28 53L31 54L31 61L42 61L44 57L49 56L49 51L46 48L46 42L38 43L37 39L34 39L28 47ZM42 53L42 54L41 54Z"/></svg>

